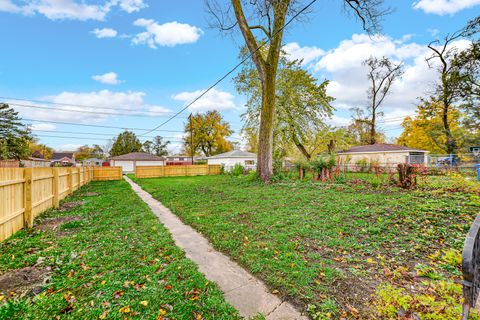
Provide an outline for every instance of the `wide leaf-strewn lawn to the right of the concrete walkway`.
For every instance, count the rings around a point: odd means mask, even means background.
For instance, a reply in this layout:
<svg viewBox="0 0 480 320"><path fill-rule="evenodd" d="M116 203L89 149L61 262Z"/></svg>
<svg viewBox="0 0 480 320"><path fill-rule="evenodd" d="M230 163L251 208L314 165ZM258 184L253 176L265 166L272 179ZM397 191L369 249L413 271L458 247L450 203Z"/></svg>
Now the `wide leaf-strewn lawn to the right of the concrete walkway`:
<svg viewBox="0 0 480 320"><path fill-rule="evenodd" d="M458 319L461 250L478 193L455 177L413 191L364 178L137 182L313 319Z"/></svg>

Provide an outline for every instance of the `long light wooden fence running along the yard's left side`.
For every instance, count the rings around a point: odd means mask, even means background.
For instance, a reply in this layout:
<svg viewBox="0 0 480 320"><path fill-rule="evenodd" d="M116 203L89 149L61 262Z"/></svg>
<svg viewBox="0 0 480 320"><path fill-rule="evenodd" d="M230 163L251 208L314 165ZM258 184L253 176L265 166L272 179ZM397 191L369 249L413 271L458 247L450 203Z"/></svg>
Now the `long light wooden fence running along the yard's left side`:
<svg viewBox="0 0 480 320"><path fill-rule="evenodd" d="M105 172L102 172L105 170ZM0 241L92 180L122 178L122 168L0 168ZM120 174L119 174L120 172Z"/></svg>

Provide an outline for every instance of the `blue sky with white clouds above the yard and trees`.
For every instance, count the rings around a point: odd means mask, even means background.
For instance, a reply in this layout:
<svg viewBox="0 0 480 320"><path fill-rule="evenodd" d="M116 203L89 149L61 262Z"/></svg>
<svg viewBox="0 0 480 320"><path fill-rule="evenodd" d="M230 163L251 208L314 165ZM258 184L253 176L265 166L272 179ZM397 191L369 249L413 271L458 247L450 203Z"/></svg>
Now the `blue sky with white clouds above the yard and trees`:
<svg viewBox="0 0 480 320"><path fill-rule="evenodd" d="M385 55L403 61L405 75L385 101L381 124L395 137L401 118L413 114L417 98L435 80L425 64L426 45L478 15L480 1L403 0L386 6L395 11L382 22L383 35L368 37L342 1L318 0L307 21L288 28L284 44L318 79L331 80L337 111L328 122L336 126L348 123L349 108L366 103L362 60ZM14 107L24 118L39 120L26 122L56 149L102 145L121 129L40 121L153 128L238 63L243 39L220 34L209 21L200 0L0 0L0 96L46 101L2 99L24 105ZM244 101L227 78L189 111L219 110L239 141ZM157 132L169 137L172 152L178 151L186 116L162 127L170 132Z"/></svg>

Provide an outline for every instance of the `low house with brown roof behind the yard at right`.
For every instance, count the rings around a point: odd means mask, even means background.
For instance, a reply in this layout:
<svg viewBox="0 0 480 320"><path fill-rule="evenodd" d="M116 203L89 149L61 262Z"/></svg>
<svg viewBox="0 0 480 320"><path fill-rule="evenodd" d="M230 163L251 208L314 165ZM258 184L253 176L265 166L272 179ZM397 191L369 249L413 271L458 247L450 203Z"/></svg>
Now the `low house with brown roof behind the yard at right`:
<svg viewBox="0 0 480 320"><path fill-rule="evenodd" d="M428 163L428 151L388 143L352 147L345 152L339 152L338 156L345 164L376 162L380 166L396 166L399 163Z"/></svg>

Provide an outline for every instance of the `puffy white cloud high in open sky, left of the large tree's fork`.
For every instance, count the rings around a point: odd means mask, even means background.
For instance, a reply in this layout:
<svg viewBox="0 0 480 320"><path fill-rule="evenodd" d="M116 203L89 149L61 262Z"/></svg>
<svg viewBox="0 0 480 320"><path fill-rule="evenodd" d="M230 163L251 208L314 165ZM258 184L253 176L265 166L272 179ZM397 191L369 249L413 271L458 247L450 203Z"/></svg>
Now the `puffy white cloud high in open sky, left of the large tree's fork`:
<svg viewBox="0 0 480 320"><path fill-rule="evenodd" d="M156 49L157 45L174 47L179 44L194 43L203 34L200 28L176 21L159 24L150 19L138 19L133 24L145 28L146 31L138 33L132 39L132 43L146 44L153 49Z"/></svg>

